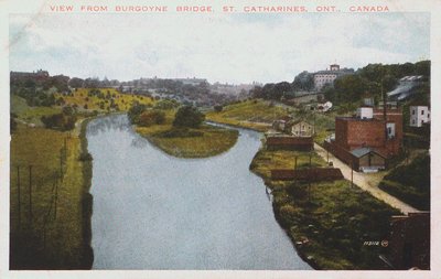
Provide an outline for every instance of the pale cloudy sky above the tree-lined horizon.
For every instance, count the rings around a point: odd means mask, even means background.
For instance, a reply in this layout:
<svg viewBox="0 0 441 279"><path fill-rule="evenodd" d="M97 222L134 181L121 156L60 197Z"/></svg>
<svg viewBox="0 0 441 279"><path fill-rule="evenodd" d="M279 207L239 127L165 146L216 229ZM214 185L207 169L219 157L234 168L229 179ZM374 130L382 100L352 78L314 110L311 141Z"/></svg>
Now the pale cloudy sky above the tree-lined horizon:
<svg viewBox="0 0 441 279"><path fill-rule="evenodd" d="M9 37L10 71L277 83L428 60L430 14L10 14Z"/></svg>

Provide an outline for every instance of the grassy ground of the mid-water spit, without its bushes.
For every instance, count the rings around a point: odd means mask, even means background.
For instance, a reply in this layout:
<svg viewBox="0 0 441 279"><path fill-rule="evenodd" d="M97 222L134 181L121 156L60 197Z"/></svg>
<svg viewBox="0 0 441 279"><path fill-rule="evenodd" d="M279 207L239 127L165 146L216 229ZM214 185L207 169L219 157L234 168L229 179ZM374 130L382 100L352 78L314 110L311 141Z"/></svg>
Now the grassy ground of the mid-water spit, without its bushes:
<svg viewBox="0 0 441 279"><path fill-rule="evenodd" d="M174 128L174 111L169 110L163 125L136 127L136 131L168 154L180 158L205 158L223 153L237 141L232 129L202 125L197 129Z"/></svg>

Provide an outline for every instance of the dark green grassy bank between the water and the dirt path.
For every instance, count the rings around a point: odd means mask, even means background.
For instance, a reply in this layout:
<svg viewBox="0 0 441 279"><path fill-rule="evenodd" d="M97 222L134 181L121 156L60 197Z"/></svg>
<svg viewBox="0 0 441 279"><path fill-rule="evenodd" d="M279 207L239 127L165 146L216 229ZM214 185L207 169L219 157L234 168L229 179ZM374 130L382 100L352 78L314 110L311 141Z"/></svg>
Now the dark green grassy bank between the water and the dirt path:
<svg viewBox="0 0 441 279"><path fill-rule="evenodd" d="M308 184L271 181L269 170L309 167L309 152L259 151L250 169L272 191L275 216L301 257L316 269L381 269L380 246L365 242L387 239L391 215L399 212L351 182ZM312 165L325 165L315 153Z"/></svg>

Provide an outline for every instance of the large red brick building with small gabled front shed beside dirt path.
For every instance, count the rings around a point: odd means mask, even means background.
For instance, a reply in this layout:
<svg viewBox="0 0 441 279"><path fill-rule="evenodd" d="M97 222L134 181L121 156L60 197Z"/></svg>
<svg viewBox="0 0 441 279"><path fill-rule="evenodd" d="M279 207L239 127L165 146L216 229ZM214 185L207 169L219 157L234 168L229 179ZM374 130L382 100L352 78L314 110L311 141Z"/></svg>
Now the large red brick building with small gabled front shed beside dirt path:
<svg viewBox="0 0 441 279"><path fill-rule="evenodd" d="M385 120L383 109L362 107L354 117L335 118L335 138L327 139L324 147L345 163L355 165L355 170L364 171L384 169L381 160L386 164L386 159L397 155L401 142L400 109L387 109Z"/></svg>

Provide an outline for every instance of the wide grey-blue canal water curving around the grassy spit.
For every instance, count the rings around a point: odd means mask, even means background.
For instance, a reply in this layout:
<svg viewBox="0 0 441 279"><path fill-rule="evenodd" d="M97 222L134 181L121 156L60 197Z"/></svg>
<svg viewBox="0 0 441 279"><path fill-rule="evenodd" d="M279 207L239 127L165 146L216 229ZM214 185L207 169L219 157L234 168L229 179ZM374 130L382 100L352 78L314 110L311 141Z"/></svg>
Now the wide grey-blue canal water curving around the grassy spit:
<svg viewBox="0 0 441 279"><path fill-rule="evenodd" d="M87 126L94 269L311 269L249 163L260 135L207 159L165 154L126 115Z"/></svg>

